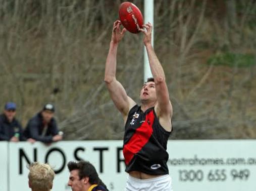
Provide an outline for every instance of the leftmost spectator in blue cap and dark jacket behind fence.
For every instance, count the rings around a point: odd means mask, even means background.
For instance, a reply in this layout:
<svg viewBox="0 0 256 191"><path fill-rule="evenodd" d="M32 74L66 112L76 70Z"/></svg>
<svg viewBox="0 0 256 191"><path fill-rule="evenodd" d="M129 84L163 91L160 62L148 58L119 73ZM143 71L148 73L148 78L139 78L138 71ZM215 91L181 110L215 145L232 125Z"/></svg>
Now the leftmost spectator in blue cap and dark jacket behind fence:
<svg viewBox="0 0 256 191"><path fill-rule="evenodd" d="M15 118L16 104L8 102L5 105L4 113L0 115L0 140L1 141L26 141L20 122ZM33 142L32 139L28 141Z"/></svg>

